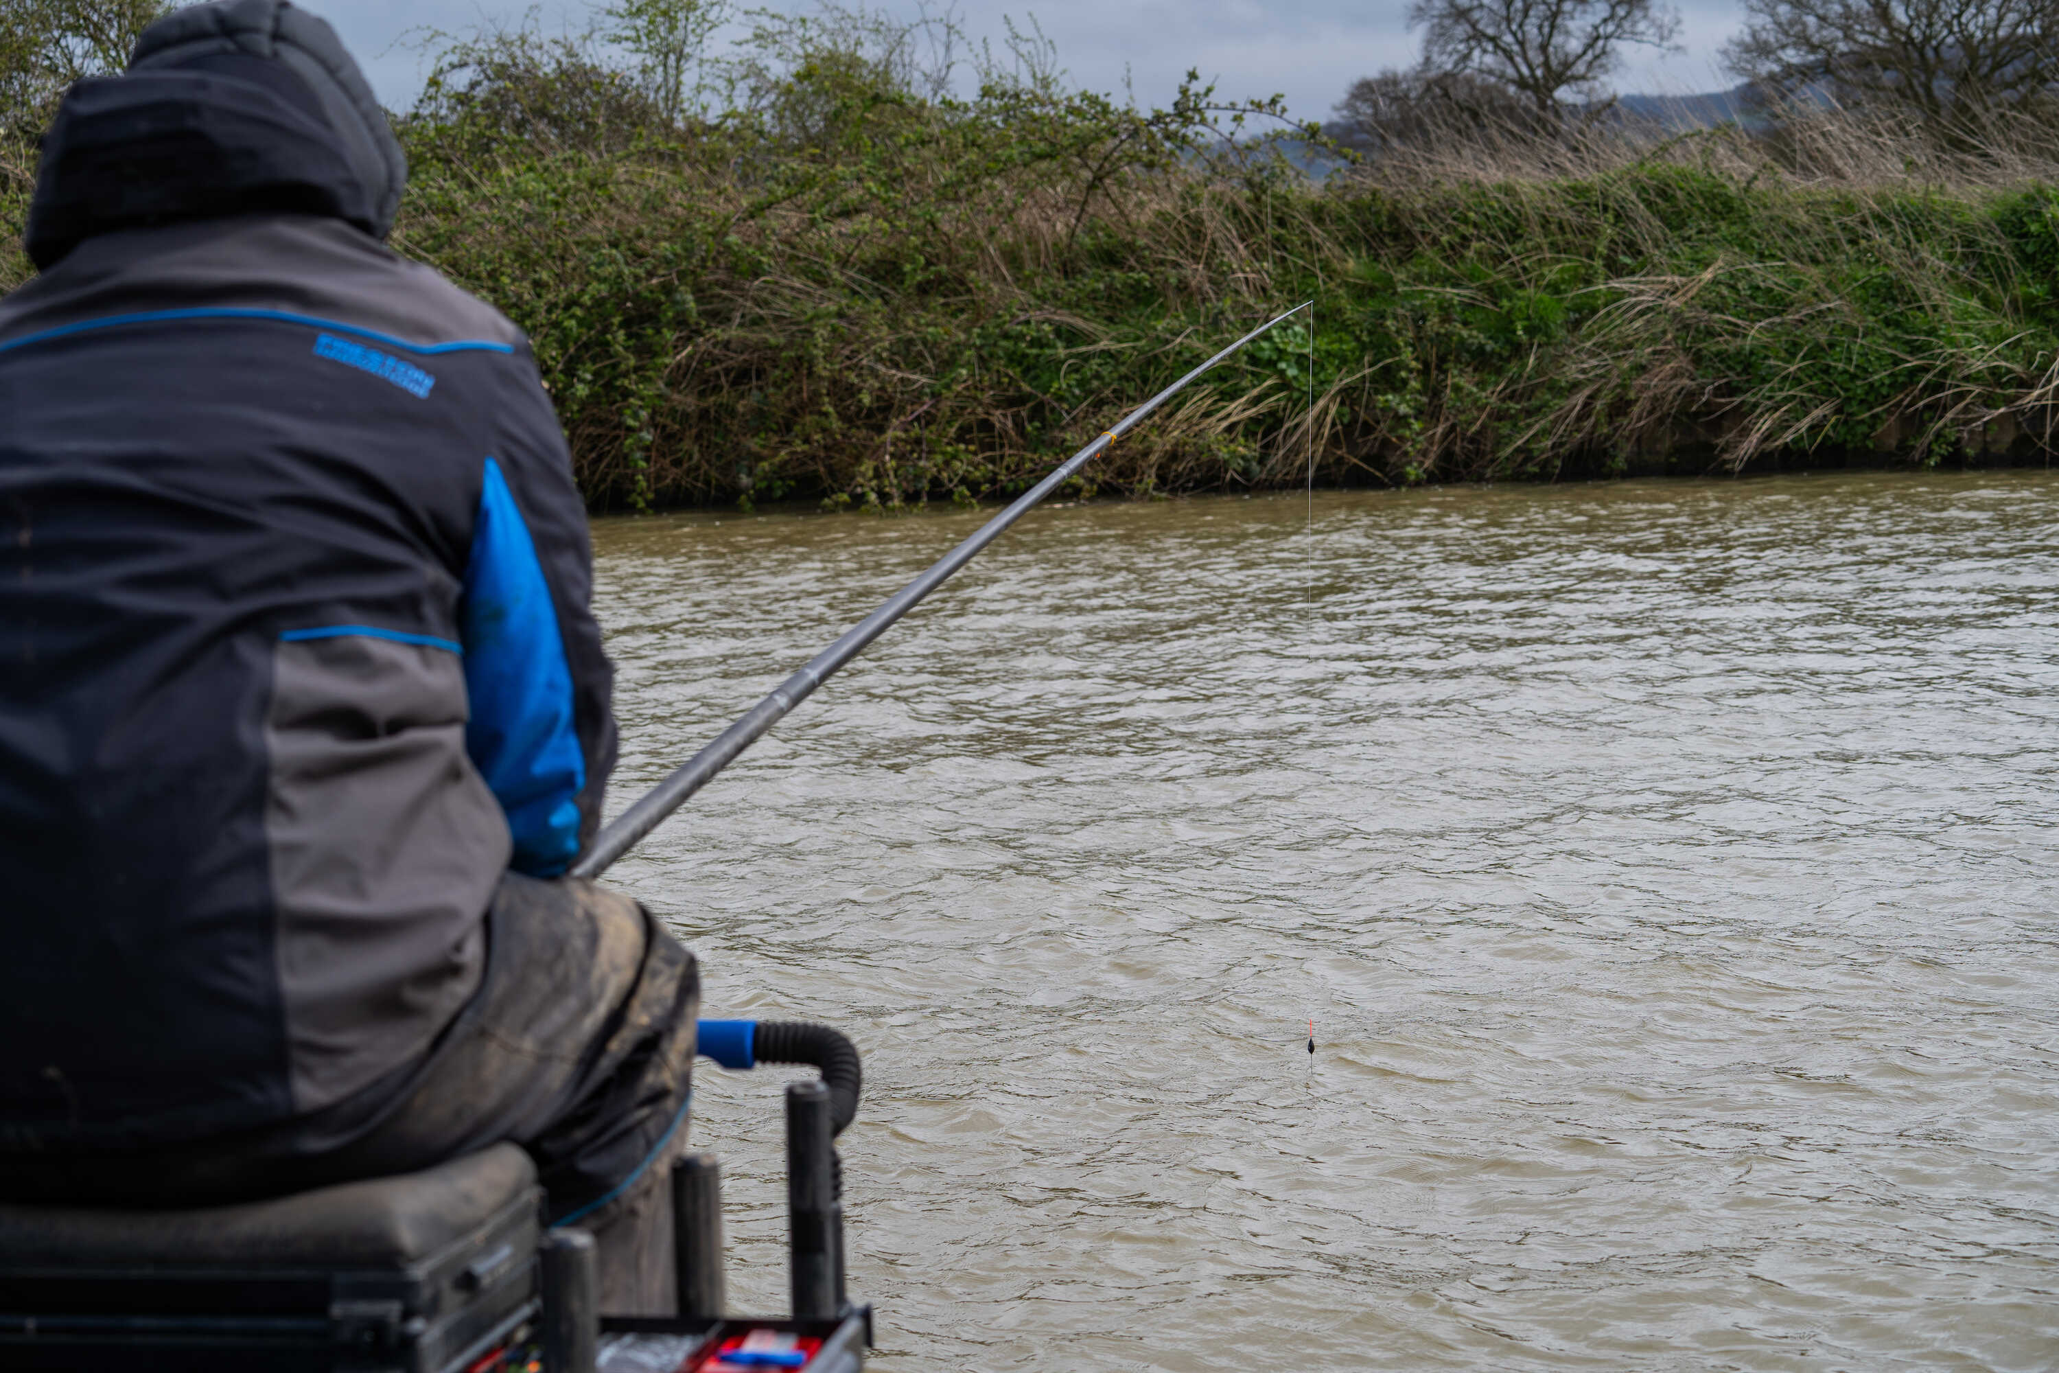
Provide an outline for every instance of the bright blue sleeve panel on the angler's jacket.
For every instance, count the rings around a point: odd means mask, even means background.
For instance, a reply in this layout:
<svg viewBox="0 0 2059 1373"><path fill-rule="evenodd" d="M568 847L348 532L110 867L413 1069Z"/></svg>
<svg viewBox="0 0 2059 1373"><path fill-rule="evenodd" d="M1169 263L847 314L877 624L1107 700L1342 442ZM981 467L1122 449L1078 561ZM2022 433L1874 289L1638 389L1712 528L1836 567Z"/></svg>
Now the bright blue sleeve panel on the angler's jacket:
<svg viewBox="0 0 2059 1373"><path fill-rule="evenodd" d="M465 751L500 801L517 873L556 877L579 852L587 760L558 613L500 463L486 459L459 613L472 723Z"/></svg>

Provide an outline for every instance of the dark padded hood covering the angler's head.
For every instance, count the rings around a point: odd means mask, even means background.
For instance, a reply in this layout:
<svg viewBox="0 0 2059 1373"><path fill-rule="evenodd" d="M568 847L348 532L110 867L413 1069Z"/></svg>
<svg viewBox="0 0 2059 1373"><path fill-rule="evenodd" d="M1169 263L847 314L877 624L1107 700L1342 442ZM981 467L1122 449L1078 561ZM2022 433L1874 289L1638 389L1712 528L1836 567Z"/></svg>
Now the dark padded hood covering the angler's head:
<svg viewBox="0 0 2059 1373"><path fill-rule="evenodd" d="M406 183L385 111L329 25L286 0L214 0L144 29L121 76L64 97L27 249L47 268L99 233L264 210L383 239Z"/></svg>

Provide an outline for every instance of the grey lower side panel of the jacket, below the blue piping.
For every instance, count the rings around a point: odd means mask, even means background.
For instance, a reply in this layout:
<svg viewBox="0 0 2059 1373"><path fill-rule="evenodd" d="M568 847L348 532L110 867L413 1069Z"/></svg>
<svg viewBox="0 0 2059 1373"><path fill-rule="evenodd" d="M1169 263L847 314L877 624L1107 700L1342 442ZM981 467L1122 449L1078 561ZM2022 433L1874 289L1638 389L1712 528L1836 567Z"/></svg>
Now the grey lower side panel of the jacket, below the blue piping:
<svg viewBox="0 0 2059 1373"><path fill-rule="evenodd" d="M465 675L447 648L280 642L266 753L286 1066L305 1114L424 1052L478 988L509 828L465 755Z"/></svg>

